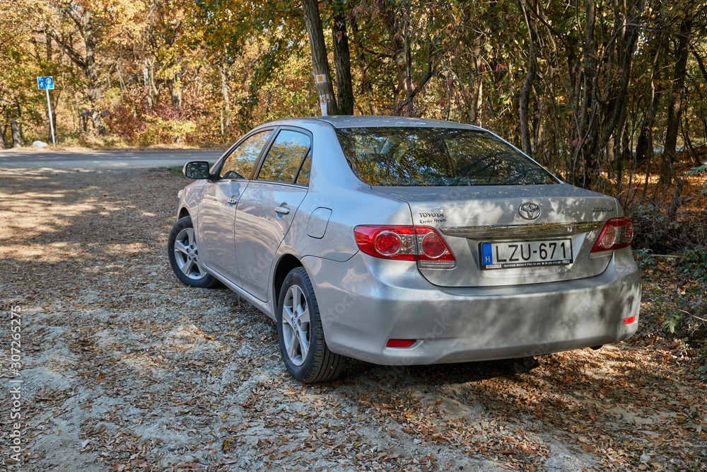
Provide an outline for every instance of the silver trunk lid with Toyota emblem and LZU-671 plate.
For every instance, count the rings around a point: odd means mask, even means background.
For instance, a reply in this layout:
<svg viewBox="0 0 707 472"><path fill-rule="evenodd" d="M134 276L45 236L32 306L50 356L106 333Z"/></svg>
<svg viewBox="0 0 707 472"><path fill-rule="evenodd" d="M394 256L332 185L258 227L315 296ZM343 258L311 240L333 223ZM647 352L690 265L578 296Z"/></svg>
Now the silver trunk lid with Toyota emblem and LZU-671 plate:
<svg viewBox="0 0 707 472"><path fill-rule="evenodd" d="M441 287L581 279L609 264L607 257L590 259L604 222L618 215L616 200L607 195L564 183L373 190L407 202L414 224L431 226L445 238L456 266L419 267Z"/></svg>

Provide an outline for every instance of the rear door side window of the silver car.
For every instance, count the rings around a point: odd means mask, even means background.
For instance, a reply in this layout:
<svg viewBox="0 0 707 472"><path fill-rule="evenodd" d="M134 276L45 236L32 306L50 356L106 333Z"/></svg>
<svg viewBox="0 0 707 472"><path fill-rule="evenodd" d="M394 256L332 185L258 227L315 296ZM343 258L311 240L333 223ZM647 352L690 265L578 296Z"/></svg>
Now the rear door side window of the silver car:
<svg viewBox="0 0 707 472"><path fill-rule="evenodd" d="M309 183L309 167L303 166L311 146L310 137L290 129L283 129L270 146L263 165L258 173L258 180L273 180L284 183ZM300 171L300 169L302 169ZM306 177L300 173L307 173ZM306 181L306 183L305 183Z"/></svg>

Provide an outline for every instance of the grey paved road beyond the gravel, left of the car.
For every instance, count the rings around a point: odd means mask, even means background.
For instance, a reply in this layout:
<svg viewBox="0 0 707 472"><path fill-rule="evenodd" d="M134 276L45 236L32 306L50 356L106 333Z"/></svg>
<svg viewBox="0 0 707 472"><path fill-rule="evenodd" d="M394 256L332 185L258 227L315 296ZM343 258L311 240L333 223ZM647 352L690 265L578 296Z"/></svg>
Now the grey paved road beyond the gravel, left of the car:
<svg viewBox="0 0 707 472"><path fill-rule="evenodd" d="M223 151L47 151L0 149L4 168L129 169L182 166L188 161L213 163Z"/></svg>

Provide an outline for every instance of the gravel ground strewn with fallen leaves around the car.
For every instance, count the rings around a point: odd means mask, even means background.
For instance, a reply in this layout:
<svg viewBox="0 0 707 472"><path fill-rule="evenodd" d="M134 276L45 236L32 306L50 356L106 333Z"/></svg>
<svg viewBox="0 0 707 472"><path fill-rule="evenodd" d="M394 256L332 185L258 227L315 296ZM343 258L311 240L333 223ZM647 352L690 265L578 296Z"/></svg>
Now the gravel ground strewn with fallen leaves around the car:
<svg viewBox="0 0 707 472"><path fill-rule="evenodd" d="M351 362L333 384L298 384L266 316L171 273L186 183L165 170L0 176L8 470L707 470L704 383L651 333L525 362Z"/></svg>

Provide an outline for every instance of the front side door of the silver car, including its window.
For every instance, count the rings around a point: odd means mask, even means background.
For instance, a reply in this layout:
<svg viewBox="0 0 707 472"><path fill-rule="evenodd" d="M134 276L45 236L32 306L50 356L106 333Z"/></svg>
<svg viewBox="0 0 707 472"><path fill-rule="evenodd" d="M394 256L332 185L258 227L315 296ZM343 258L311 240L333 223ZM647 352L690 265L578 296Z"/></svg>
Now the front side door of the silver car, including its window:
<svg viewBox="0 0 707 472"><path fill-rule="evenodd" d="M273 130L246 137L216 170L216 178L206 183L197 214L199 257L230 282L240 285L233 229L238 200L247 188L253 166Z"/></svg>

